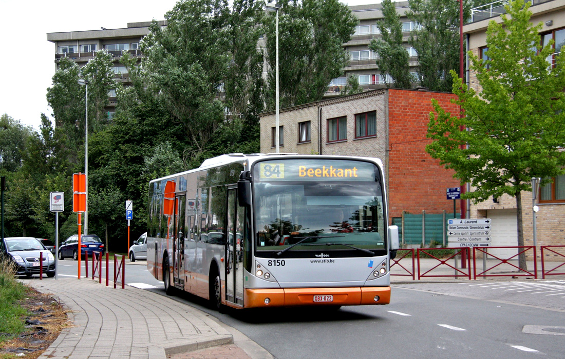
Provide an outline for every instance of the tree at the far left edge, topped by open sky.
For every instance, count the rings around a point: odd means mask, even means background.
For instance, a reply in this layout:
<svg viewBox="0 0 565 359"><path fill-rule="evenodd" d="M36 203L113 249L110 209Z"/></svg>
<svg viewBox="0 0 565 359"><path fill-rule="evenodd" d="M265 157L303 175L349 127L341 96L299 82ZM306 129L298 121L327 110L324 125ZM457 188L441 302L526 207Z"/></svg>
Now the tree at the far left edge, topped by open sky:
<svg viewBox="0 0 565 359"><path fill-rule="evenodd" d="M6 113L0 116L0 172L15 172L21 167L32 129Z"/></svg>

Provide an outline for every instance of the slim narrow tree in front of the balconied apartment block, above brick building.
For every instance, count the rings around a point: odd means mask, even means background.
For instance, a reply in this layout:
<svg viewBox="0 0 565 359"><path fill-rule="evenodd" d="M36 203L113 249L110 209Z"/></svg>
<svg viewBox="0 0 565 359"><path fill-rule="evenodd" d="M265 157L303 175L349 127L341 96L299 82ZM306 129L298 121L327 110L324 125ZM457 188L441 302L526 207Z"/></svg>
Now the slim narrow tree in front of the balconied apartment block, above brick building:
<svg viewBox="0 0 565 359"><path fill-rule="evenodd" d="M383 75L390 74L394 80L393 87L410 89L412 76L408 67L408 52L402 46L402 23L391 0L383 0L383 16L383 19L377 21L381 38L373 38L369 49L379 55L377 66ZM391 87L386 80L385 84L386 87Z"/></svg>

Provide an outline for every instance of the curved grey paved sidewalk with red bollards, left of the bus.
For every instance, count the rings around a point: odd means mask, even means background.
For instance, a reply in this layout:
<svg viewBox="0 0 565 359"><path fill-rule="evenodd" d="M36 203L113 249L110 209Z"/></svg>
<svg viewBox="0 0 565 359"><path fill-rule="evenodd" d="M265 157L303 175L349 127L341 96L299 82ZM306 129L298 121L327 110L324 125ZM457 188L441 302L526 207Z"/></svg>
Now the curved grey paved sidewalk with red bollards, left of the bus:
<svg viewBox="0 0 565 359"><path fill-rule="evenodd" d="M28 282L69 309L71 326L40 359L165 359L169 354L235 344L241 359L272 358L237 330L170 297L90 279Z"/></svg>

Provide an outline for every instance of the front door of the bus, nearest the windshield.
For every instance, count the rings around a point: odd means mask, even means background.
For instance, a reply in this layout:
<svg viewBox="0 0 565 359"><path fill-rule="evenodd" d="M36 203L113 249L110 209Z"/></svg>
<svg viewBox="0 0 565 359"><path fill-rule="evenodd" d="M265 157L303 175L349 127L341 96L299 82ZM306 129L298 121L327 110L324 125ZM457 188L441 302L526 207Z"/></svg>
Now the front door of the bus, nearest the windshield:
<svg viewBox="0 0 565 359"><path fill-rule="evenodd" d="M228 190L228 243L225 246L226 291L225 299L243 306L243 233L244 208L237 205L237 189Z"/></svg>

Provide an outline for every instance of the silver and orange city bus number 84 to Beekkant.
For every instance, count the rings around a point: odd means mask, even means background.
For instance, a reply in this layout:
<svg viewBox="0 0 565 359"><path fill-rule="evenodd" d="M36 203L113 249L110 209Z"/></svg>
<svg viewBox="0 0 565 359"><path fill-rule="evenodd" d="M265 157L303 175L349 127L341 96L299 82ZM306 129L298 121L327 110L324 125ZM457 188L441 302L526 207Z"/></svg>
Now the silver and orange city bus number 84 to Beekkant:
<svg viewBox="0 0 565 359"><path fill-rule="evenodd" d="M147 269L214 309L388 304L379 159L229 154L149 183Z"/></svg>

